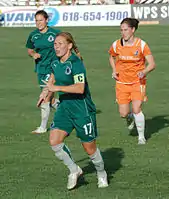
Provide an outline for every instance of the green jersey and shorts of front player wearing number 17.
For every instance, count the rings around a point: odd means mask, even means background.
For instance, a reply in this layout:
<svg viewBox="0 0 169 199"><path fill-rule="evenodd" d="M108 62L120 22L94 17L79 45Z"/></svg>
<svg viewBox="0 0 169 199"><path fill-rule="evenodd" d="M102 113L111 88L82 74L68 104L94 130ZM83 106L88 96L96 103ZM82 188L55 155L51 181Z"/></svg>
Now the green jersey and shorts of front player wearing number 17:
<svg viewBox="0 0 169 199"><path fill-rule="evenodd" d="M76 135L82 142L91 142L97 137L96 108L91 99L86 79L86 70L82 61L72 53L64 63L56 59L51 64L57 86L69 86L85 83L83 94L58 92L60 104L55 112L51 129L60 129L70 134L76 129Z"/></svg>

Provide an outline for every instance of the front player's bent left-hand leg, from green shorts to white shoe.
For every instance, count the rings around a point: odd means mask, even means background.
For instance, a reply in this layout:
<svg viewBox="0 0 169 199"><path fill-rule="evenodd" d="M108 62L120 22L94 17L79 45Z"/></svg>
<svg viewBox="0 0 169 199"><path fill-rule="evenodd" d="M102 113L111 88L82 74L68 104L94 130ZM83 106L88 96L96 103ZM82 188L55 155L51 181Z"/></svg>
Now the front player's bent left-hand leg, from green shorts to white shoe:
<svg viewBox="0 0 169 199"><path fill-rule="evenodd" d="M78 177L83 173L82 169L74 162L68 146L65 145L64 139L72 132L73 125L69 117L65 114L61 104L55 113L50 131L50 145L55 156L63 162L69 169L67 188L73 189L77 184Z"/></svg>

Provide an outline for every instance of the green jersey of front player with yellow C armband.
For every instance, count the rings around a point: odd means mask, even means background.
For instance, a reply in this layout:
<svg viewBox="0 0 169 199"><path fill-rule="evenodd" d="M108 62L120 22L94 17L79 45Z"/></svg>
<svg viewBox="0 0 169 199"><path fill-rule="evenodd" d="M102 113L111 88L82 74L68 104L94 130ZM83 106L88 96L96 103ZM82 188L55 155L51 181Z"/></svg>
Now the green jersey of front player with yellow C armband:
<svg viewBox="0 0 169 199"><path fill-rule="evenodd" d="M61 63L56 57L51 64L51 72L54 74L55 84L58 86L85 83L83 94L58 92L62 107L71 118L87 117L96 113L87 83L85 67L75 54L72 54L64 63Z"/></svg>

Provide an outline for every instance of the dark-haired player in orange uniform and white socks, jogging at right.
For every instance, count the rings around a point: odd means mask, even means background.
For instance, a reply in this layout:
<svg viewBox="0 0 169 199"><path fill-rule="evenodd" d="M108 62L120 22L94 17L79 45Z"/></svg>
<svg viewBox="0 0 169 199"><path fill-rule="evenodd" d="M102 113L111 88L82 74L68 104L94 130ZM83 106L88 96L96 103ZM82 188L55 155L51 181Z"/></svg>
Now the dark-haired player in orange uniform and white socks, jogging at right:
<svg viewBox="0 0 169 199"><path fill-rule="evenodd" d="M113 42L109 49L112 77L116 80L116 99L119 113L138 131L138 144L145 144L145 117L142 103L146 100L146 76L154 70L155 62L147 43L135 37L139 21L125 18L121 22L122 38ZM130 112L130 103L132 112Z"/></svg>

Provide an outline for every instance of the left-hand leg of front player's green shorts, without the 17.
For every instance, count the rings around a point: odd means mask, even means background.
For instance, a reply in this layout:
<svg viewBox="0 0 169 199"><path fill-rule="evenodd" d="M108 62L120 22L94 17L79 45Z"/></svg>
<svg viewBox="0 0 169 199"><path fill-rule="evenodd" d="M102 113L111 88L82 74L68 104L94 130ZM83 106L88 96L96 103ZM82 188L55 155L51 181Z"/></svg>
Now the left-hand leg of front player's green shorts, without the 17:
<svg viewBox="0 0 169 199"><path fill-rule="evenodd" d="M65 111L62 103L58 105L58 108L54 114L53 122L51 124L51 131L54 129L59 129L65 131L68 135L73 131L73 123L71 118Z"/></svg>

